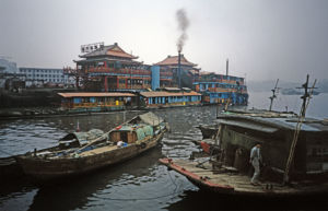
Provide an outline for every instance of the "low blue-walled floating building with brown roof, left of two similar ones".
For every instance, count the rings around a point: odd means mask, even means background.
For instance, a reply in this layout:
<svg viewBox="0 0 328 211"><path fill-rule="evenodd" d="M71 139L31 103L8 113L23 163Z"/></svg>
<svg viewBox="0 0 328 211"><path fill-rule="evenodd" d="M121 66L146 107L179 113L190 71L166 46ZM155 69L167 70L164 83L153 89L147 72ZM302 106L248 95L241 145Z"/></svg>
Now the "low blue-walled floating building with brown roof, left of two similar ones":
<svg viewBox="0 0 328 211"><path fill-rule="evenodd" d="M71 113L121 110L136 102L131 93L58 93L61 108Z"/></svg>

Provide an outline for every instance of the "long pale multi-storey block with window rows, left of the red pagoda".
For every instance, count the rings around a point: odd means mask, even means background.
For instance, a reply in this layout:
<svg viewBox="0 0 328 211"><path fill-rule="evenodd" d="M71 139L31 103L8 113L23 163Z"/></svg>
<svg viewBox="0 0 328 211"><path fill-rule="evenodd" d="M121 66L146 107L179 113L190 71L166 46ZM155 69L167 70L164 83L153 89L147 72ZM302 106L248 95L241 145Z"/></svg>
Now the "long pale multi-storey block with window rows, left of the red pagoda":
<svg viewBox="0 0 328 211"><path fill-rule="evenodd" d="M20 68L20 73L26 75L26 85L32 84L74 84L74 80L66 74L63 69Z"/></svg>

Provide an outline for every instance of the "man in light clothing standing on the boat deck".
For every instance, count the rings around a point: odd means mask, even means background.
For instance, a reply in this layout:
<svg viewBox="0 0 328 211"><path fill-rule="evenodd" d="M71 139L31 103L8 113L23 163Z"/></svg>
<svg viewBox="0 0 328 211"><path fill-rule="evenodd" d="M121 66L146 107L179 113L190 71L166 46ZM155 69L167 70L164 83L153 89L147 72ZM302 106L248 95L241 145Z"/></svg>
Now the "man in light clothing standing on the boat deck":
<svg viewBox="0 0 328 211"><path fill-rule="evenodd" d="M251 185L259 185L259 175L260 175L260 163L262 162L262 156L260 152L261 144L257 143L250 151L250 161L254 167L254 175L250 179Z"/></svg>

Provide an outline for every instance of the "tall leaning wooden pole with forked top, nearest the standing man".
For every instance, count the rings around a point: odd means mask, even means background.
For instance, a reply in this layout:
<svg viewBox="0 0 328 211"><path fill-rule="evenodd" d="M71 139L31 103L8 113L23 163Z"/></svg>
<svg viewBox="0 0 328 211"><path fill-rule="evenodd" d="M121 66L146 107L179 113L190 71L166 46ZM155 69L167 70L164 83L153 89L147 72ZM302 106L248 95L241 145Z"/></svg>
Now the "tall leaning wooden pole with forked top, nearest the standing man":
<svg viewBox="0 0 328 211"><path fill-rule="evenodd" d="M301 98L303 98L303 105L302 105L302 108L301 108L301 112L300 112L298 120L297 120L297 124L296 124L296 129L295 129L294 137L293 137L292 144L291 144L290 154L289 154L288 162L286 162L286 165L285 165L285 171L284 171L284 174L283 174L283 184L286 184L289 181L289 174L290 174L292 161L293 161L293 157L294 157L296 143L297 143L297 140L298 140L298 134L300 134L301 127L302 127L302 124L303 124L304 118L305 118L305 113L306 113L307 106L309 104L309 99L313 95L313 91L315 89L316 82L317 82L317 80L314 81L313 86L311 87L309 92L307 92L307 89L308 89L308 74L307 74L306 75L306 82L302 85L305 89L305 93L301 97Z"/></svg>

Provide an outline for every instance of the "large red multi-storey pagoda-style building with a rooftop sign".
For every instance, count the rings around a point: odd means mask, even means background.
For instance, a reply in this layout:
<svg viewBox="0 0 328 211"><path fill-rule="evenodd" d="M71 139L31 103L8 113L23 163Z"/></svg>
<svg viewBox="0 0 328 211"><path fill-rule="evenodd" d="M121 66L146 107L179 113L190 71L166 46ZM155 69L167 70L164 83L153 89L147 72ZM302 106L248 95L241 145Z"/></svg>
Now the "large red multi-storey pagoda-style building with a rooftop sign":
<svg viewBox="0 0 328 211"><path fill-rule="evenodd" d="M151 87L151 67L122 50L117 43L101 45L75 60L81 77L93 83L93 91L143 91Z"/></svg>

